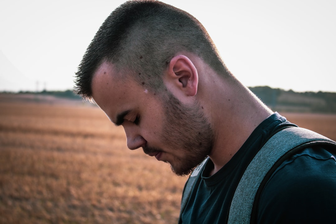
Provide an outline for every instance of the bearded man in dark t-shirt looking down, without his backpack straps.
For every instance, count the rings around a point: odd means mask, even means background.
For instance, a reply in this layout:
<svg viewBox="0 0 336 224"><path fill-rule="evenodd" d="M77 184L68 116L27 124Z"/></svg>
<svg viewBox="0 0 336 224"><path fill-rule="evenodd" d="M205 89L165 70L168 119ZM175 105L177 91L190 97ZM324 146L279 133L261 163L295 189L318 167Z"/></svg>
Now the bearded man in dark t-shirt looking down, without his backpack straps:
<svg viewBox="0 0 336 224"><path fill-rule="evenodd" d="M129 149L142 147L177 175L209 158L182 223L225 223L251 160L275 133L296 127L227 70L196 18L158 1L129 1L112 12L76 78L77 93L124 127ZM283 162L263 187L251 223L332 222L334 156L314 146Z"/></svg>

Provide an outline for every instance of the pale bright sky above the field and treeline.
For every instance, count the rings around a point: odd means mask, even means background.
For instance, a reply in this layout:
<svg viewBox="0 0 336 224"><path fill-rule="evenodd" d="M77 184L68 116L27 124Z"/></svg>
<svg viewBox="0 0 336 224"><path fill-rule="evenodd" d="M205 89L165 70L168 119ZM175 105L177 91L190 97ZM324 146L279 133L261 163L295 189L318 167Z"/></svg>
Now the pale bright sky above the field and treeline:
<svg viewBox="0 0 336 224"><path fill-rule="evenodd" d="M2 0L0 91L73 89L87 46L123 0ZM246 86L336 92L336 1L163 0L194 15Z"/></svg>

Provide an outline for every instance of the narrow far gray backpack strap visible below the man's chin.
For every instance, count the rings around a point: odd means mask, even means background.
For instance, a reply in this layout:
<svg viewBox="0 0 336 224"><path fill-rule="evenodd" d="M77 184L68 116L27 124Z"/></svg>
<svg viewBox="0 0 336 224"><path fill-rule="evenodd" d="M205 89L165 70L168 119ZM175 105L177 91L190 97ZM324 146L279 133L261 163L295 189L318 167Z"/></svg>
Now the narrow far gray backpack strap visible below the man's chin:
<svg viewBox="0 0 336 224"><path fill-rule="evenodd" d="M190 175L190 177L188 178L187 182L184 185L183 194L182 194L182 201L181 201L180 217L178 218L178 223L181 223L181 221L182 221L181 216L182 216L184 208L185 208L185 206L186 206L186 204L189 200L191 191L194 187L194 184L197 180L197 177L198 177L199 173L202 171L202 169L205 166L208 159L209 159L209 157L207 157L205 160L203 160L203 162L195 168L195 170Z"/></svg>

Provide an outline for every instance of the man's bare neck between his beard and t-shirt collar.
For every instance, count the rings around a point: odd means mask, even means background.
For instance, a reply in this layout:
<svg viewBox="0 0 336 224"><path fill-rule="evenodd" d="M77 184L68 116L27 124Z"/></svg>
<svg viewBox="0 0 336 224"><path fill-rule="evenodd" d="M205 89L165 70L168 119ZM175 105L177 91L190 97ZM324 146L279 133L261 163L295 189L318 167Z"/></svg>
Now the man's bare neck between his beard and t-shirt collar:
<svg viewBox="0 0 336 224"><path fill-rule="evenodd" d="M217 77L221 79L220 77ZM208 113L214 131L214 144L209 154L214 163L210 175L221 169L241 148L254 129L273 112L249 89L240 83L228 84L223 80L211 82ZM217 92L211 92L216 90ZM209 98L208 98L209 99Z"/></svg>

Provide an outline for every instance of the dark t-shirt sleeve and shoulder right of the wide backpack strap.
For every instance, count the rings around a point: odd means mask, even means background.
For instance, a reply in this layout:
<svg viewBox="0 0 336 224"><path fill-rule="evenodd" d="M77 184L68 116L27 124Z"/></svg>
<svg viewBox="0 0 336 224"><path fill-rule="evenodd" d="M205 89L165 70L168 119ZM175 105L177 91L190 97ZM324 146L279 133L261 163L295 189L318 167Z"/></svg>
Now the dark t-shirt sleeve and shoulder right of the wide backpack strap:
<svg viewBox="0 0 336 224"><path fill-rule="evenodd" d="M286 160L260 195L257 223L334 223L335 157L335 152L316 147Z"/></svg>

